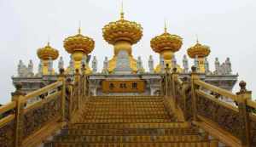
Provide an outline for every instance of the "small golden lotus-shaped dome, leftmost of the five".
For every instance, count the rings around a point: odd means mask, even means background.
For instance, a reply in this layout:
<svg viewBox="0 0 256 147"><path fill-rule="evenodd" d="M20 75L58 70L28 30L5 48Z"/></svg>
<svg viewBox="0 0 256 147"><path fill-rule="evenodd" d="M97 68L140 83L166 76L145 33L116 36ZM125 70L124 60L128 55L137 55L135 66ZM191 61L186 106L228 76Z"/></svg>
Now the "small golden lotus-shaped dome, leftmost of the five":
<svg viewBox="0 0 256 147"><path fill-rule="evenodd" d="M49 46L49 42L44 48L38 48L38 58L43 60L55 60L59 57L59 51Z"/></svg>

